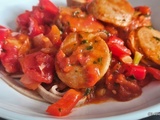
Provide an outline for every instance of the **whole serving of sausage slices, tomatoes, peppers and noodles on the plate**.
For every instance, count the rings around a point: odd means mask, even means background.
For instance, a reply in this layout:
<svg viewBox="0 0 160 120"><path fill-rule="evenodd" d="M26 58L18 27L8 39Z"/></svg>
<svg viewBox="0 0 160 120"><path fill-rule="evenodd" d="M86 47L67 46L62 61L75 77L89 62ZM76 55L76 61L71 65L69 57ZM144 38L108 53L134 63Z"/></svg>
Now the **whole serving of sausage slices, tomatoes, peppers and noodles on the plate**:
<svg viewBox="0 0 160 120"><path fill-rule="evenodd" d="M39 0L15 17L16 29L0 23L0 72L10 87L48 103L46 114L67 116L84 105L132 101L160 80L150 6L66 3Z"/></svg>

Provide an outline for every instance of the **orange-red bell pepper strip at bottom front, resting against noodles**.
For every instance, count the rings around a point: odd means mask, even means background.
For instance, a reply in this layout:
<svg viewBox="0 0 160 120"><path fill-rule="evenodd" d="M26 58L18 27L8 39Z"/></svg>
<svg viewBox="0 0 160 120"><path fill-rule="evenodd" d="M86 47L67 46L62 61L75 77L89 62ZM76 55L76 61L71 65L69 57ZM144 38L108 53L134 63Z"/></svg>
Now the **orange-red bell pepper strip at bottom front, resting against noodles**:
<svg viewBox="0 0 160 120"><path fill-rule="evenodd" d="M54 116L68 115L82 97L81 92L70 89L59 101L50 105L46 112Z"/></svg>

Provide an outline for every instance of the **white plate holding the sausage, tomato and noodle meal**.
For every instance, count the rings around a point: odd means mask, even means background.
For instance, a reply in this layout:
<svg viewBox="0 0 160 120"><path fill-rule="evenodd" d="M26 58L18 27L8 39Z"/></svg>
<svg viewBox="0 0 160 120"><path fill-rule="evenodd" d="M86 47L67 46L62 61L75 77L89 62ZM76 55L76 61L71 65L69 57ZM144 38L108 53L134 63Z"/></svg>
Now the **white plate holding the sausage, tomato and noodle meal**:
<svg viewBox="0 0 160 120"><path fill-rule="evenodd" d="M57 5L65 5L64 0L53 0ZM160 30L159 0L130 0L134 6L148 5L152 10L154 27ZM37 5L38 0L0 0L0 24L15 28L15 18L26 9ZM143 94L129 102L106 102L73 109L64 119L140 119L160 112L160 82L154 82L143 89ZM49 104L32 100L0 80L0 117L14 120L53 120L45 113Z"/></svg>

